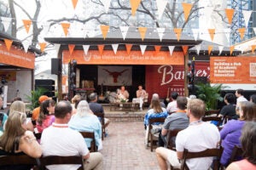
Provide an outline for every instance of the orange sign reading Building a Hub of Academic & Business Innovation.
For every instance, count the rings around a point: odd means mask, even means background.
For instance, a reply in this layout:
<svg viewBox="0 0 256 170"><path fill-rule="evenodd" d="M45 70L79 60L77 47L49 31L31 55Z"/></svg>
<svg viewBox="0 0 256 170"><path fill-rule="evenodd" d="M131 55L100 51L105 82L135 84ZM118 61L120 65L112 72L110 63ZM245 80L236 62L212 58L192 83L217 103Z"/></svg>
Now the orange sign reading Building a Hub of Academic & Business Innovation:
<svg viewBox="0 0 256 170"><path fill-rule="evenodd" d="M211 57L212 83L256 83L256 57Z"/></svg>

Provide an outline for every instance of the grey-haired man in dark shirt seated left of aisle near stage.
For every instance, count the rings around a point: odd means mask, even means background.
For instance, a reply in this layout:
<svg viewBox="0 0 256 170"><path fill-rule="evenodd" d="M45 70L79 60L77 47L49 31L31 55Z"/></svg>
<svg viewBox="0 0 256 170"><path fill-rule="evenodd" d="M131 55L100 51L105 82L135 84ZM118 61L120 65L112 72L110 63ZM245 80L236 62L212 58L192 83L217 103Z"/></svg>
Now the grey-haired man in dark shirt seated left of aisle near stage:
<svg viewBox="0 0 256 170"><path fill-rule="evenodd" d="M98 99L97 94L91 93L89 96L89 99L90 99L90 103L89 103L90 111L92 111L93 113L101 113L102 115L105 115L102 105L97 103L97 99ZM101 118L100 117L98 118L99 118L99 121L101 122L102 121ZM109 119L105 118L104 116L104 126L108 127L109 123L110 123Z"/></svg>

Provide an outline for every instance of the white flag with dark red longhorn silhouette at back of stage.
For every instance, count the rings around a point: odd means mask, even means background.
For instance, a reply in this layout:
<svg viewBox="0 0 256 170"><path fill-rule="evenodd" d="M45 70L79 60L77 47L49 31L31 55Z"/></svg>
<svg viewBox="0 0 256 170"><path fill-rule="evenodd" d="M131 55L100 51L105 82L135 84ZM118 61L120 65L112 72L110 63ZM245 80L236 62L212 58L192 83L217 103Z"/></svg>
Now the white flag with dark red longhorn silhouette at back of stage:
<svg viewBox="0 0 256 170"><path fill-rule="evenodd" d="M131 66L98 66L98 85L131 86Z"/></svg>

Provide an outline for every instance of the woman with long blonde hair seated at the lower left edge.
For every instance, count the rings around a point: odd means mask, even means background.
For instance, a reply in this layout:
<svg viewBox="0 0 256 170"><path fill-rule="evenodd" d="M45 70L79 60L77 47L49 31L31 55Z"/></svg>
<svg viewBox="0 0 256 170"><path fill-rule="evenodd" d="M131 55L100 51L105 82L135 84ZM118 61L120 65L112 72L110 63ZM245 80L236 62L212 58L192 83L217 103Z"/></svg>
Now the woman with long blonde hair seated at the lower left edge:
<svg viewBox="0 0 256 170"><path fill-rule="evenodd" d="M0 156L23 155L38 158L42 150L34 134L26 130L26 113L10 112L3 135L0 137ZM0 167L0 169L30 169L20 165L14 167Z"/></svg>

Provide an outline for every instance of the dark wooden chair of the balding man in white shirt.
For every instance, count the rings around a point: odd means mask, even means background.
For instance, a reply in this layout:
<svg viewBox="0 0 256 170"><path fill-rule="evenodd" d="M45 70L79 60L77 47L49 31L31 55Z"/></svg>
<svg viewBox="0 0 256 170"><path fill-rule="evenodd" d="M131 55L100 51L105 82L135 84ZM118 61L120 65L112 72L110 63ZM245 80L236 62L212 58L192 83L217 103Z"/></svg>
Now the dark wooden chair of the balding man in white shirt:
<svg viewBox="0 0 256 170"><path fill-rule="evenodd" d="M84 170L83 156L44 156L40 158L41 170L47 169L49 165L62 165L62 164L78 164L79 170Z"/></svg>

